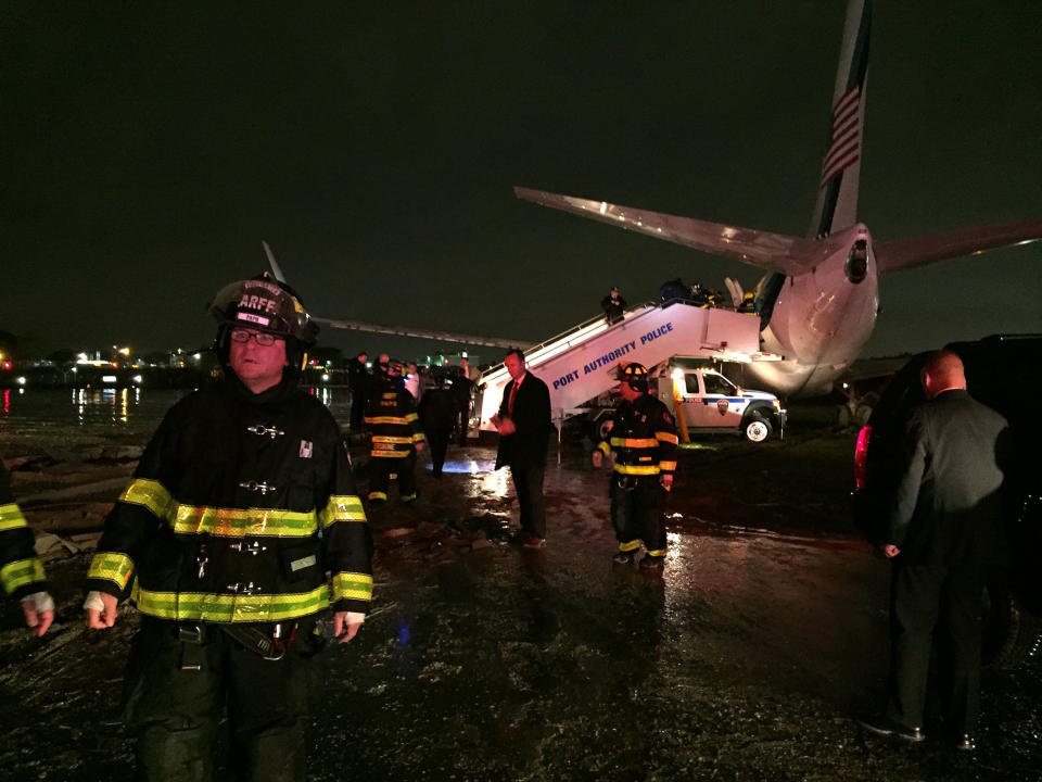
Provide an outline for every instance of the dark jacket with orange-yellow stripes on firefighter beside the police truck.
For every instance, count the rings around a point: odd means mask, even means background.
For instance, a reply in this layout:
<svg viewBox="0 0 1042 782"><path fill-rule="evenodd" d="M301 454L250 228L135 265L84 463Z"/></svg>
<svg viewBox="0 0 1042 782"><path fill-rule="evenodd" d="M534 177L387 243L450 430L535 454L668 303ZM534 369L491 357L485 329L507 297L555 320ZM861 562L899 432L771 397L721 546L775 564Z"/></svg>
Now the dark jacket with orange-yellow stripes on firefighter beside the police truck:
<svg viewBox="0 0 1042 782"><path fill-rule="evenodd" d="M676 425L661 400L641 394L623 401L612 416L608 440L598 447L607 456L614 451L615 467L624 476L673 475L676 469Z"/></svg>

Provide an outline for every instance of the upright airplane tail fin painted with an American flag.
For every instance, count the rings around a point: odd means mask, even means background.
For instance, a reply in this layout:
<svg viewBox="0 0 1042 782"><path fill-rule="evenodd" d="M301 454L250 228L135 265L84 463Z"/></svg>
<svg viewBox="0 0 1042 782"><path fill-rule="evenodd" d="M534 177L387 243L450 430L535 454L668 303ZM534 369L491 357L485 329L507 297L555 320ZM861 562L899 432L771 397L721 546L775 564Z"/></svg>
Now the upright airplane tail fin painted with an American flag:
<svg viewBox="0 0 1042 782"><path fill-rule="evenodd" d="M808 236L827 236L857 222L871 27L872 0L851 0L847 7L843 45L833 92L828 151L822 163L817 204Z"/></svg>

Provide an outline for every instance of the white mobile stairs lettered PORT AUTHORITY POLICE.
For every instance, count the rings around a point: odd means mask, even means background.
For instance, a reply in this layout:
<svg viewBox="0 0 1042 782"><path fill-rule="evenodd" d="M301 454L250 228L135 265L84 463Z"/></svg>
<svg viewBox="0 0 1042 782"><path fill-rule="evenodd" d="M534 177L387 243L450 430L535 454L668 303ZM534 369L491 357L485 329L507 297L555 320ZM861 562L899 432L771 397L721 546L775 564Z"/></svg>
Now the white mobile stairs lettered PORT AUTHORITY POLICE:
<svg viewBox="0 0 1042 782"><path fill-rule="evenodd" d="M750 362L762 357L759 351L758 315L677 300L633 307L610 326L601 315L525 350L524 356L529 370L549 388L550 415L560 425L615 386L619 367L631 362L652 367L674 355ZM478 378L480 429L495 430L491 418L509 380L503 364Z"/></svg>

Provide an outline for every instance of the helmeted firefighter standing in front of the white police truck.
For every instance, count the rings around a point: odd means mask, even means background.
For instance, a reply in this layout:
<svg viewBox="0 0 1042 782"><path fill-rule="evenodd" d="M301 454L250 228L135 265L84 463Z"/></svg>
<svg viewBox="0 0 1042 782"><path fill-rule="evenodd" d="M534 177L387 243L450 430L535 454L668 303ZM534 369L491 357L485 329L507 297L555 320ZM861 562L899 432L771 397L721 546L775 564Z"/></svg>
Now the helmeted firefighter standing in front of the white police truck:
<svg viewBox="0 0 1042 782"><path fill-rule="evenodd" d="M609 440L593 454L595 467L613 455L611 524L619 551L614 562L632 563L644 544L644 569L661 569L665 558L665 497L676 470L676 426L662 402L648 393L648 370L627 364L620 386L622 403L612 417Z"/></svg>

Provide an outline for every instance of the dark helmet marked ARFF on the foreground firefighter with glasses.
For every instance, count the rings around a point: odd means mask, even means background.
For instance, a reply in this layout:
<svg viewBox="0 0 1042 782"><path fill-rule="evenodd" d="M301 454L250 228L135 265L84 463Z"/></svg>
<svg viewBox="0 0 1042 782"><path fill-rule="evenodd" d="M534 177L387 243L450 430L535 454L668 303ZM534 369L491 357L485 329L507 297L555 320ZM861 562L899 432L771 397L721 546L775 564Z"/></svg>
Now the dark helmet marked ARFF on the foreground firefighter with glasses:
<svg viewBox="0 0 1042 782"><path fill-rule="evenodd" d="M223 327L292 337L305 348L315 344L318 337L318 324L304 310L296 292L267 272L221 288L209 312Z"/></svg>

